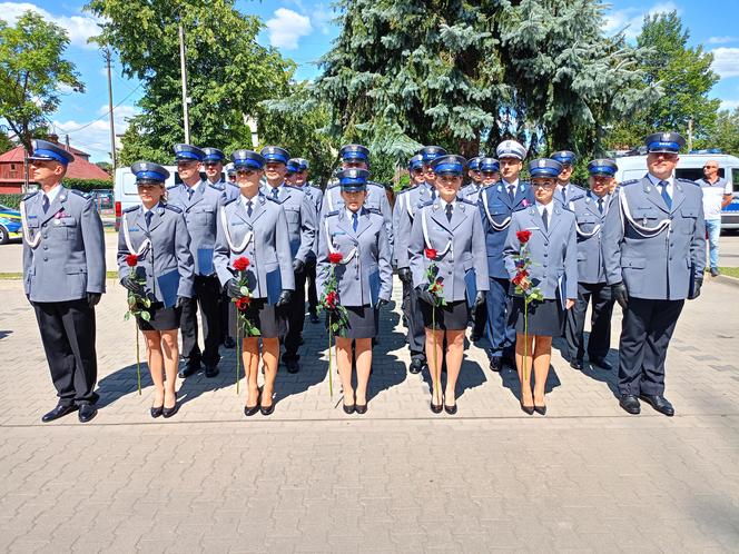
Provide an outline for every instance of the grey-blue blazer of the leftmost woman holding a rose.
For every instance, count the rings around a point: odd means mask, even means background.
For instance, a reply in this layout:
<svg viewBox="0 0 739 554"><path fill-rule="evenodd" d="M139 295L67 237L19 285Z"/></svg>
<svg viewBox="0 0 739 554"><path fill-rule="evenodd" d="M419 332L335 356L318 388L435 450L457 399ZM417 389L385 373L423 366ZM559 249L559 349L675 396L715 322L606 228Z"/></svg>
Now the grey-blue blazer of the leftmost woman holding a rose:
<svg viewBox="0 0 739 554"><path fill-rule="evenodd" d="M126 244L125 225L134 251ZM150 241L144 250L142 243ZM140 251L135 268L126 264L126 256ZM136 271L146 278L146 296L151 301L171 307L177 297L193 298L195 263L190 253L190 236L183 210L177 206L159 205L154 208L151 224L147 228L142 206L128 208L118 231L118 278Z"/></svg>

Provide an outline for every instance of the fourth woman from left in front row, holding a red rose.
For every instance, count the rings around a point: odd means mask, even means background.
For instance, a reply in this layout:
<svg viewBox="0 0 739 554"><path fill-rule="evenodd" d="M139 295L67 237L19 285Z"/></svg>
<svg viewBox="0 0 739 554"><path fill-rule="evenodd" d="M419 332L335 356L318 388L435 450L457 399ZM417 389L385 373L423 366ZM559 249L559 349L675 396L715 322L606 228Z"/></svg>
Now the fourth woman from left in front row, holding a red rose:
<svg viewBox="0 0 739 554"><path fill-rule="evenodd" d="M459 196L466 160L441 156L432 162L439 196L418 208L413 219L408 255L413 285L420 300L426 332L426 359L431 364L434 414L456 414L456 379L464 356L464 333L470 308L485 303L489 287L485 237L474 204ZM433 259L430 254L433 254ZM426 273L431 264L441 280L445 306L434 307ZM446 342L446 348L443 348ZM435 347L435 352L434 352ZM434 364L435 362L435 364ZM446 363L446 386L442 394L441 365Z"/></svg>

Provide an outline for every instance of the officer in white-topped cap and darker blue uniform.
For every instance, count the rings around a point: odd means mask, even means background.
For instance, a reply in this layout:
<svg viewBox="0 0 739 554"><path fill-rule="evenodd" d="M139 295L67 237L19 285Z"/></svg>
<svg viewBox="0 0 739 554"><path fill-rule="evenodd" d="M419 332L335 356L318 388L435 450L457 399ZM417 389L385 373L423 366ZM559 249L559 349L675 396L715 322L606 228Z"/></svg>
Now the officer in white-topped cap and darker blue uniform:
<svg viewBox="0 0 739 554"><path fill-rule="evenodd" d="M515 140L504 140L496 148L502 179L487 187L480 195L480 216L485 233L485 247L487 250L487 274L490 276L490 291L487 294L487 327L486 335L490 342L490 368L500 372L503 358L508 358L511 366L515 365L513 348L515 344L515 328L509 320L511 285L509 273L503 261L503 247L508 236L511 217L514 211L532 206L534 195L531 186L519 179L526 149Z"/></svg>

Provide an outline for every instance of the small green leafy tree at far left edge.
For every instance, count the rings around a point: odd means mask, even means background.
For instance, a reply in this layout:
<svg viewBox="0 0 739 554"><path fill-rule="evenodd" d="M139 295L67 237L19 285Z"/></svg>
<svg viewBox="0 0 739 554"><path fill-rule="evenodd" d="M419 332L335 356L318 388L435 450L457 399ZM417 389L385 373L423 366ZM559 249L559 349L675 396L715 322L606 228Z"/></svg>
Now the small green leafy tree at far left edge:
<svg viewBox="0 0 739 554"><path fill-rule="evenodd" d="M68 44L61 27L33 11L14 27L0 20L0 117L28 151L59 107L60 87L85 91L75 65L63 59Z"/></svg>

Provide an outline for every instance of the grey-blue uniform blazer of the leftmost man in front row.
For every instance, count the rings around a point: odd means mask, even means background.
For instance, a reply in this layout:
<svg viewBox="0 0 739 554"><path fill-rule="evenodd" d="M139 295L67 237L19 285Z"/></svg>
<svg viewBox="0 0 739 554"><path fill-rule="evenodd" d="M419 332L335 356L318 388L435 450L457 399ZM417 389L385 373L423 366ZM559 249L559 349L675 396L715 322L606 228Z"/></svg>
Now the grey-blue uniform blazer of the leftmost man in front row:
<svg viewBox="0 0 739 554"><path fill-rule="evenodd" d="M23 200L28 237L23 237L23 288L31 301L68 301L106 290L102 222L95 200L61 187L45 214L43 192ZM38 245L31 248L40 237Z"/></svg>

